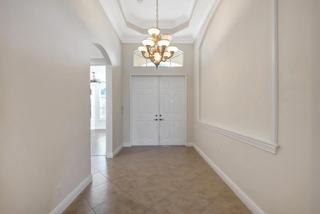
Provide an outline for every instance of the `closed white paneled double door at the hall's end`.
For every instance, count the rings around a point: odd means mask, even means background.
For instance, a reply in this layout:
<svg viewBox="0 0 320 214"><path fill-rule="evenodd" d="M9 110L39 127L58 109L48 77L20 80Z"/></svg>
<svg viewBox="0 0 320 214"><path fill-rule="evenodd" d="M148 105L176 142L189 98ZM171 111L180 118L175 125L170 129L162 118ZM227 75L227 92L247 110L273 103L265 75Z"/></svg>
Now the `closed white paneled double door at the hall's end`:
<svg viewBox="0 0 320 214"><path fill-rule="evenodd" d="M185 76L131 76L132 145L185 145Z"/></svg>

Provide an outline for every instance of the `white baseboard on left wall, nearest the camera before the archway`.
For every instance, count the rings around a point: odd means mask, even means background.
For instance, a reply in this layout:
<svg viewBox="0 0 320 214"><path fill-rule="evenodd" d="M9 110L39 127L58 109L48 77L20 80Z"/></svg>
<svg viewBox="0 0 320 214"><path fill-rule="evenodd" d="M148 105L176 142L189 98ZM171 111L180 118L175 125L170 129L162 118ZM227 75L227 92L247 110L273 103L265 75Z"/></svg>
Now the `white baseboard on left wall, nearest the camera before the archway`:
<svg viewBox="0 0 320 214"><path fill-rule="evenodd" d="M92 175L85 178L73 191L57 205L50 214L61 214L70 203L83 191L83 189L92 182Z"/></svg>

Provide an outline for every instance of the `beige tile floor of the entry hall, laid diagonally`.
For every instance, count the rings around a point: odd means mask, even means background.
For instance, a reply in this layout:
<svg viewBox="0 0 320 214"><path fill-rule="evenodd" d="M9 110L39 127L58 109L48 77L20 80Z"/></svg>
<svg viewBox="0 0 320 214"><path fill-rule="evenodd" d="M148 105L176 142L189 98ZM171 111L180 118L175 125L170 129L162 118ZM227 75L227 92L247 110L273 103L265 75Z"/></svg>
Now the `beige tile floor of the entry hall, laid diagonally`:
<svg viewBox="0 0 320 214"><path fill-rule="evenodd" d="M251 213L192 147L91 156L93 181L63 213Z"/></svg>

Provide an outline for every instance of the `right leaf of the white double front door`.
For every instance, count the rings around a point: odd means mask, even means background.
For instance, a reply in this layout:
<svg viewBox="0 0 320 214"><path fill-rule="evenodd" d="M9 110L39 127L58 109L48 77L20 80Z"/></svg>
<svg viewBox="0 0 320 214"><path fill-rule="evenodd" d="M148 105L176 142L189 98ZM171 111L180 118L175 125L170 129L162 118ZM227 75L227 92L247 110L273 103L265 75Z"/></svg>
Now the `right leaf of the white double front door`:
<svg viewBox="0 0 320 214"><path fill-rule="evenodd" d="M159 145L185 144L184 79L184 76L159 77Z"/></svg>

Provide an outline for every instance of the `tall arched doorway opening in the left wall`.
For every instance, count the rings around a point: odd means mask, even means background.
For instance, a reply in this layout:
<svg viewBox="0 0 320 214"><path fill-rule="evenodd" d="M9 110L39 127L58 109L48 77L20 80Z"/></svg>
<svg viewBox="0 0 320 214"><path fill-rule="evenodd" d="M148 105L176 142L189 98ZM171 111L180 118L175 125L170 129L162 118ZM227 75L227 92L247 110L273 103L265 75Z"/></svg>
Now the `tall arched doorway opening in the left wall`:
<svg viewBox="0 0 320 214"><path fill-rule="evenodd" d="M112 153L112 64L98 43L90 45L90 126L91 156Z"/></svg>

